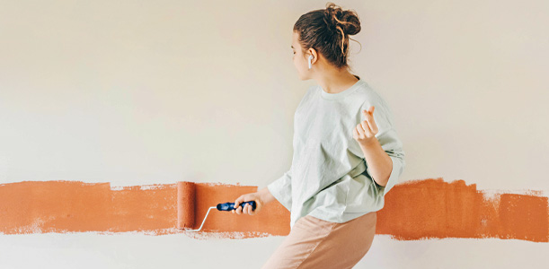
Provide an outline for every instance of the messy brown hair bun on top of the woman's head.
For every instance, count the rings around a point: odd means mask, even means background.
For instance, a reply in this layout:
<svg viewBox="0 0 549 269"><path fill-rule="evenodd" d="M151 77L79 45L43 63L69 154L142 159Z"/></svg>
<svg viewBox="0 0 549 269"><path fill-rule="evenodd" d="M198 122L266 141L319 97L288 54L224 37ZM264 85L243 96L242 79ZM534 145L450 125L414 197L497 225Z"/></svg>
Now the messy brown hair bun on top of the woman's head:
<svg viewBox="0 0 549 269"><path fill-rule="evenodd" d="M344 11L331 2L326 4L324 22L329 29L334 31L341 29L346 35L356 35L360 31L359 15L355 11Z"/></svg>

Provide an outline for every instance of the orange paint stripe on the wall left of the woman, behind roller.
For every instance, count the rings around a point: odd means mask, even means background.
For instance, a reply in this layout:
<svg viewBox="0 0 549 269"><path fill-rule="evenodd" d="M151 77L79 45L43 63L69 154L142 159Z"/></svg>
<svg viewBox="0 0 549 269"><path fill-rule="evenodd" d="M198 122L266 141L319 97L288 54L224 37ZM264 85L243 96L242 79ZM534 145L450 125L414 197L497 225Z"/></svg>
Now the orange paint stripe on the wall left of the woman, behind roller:
<svg viewBox="0 0 549 269"><path fill-rule="evenodd" d="M231 202L257 187L196 183L195 227L208 208ZM177 229L177 184L111 189L110 183L22 181L0 185L0 232L100 233L137 231L152 235L182 233ZM224 238L286 235L289 213L279 203L267 204L257 215L236 215L212 209L199 232Z"/></svg>

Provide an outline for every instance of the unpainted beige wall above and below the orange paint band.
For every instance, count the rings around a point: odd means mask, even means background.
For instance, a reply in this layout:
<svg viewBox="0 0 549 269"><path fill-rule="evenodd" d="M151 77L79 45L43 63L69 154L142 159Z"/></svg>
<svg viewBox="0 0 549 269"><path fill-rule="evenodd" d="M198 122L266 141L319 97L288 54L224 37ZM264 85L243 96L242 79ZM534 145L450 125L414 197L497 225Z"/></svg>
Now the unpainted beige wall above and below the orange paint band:
<svg viewBox="0 0 549 269"><path fill-rule="evenodd" d="M0 184L265 187L289 168L314 84L297 78L291 29L325 3L0 0ZM394 111L401 181L548 193L549 2L335 3L359 13L350 65ZM0 236L0 265L256 268L282 239ZM357 267L539 267L547 246L377 236Z"/></svg>

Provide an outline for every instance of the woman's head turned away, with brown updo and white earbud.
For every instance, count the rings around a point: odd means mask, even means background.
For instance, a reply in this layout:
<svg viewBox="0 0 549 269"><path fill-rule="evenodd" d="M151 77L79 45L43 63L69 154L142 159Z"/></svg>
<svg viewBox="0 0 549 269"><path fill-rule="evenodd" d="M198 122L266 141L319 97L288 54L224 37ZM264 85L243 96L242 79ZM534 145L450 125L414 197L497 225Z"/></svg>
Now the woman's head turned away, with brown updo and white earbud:
<svg viewBox="0 0 549 269"><path fill-rule="evenodd" d="M349 36L360 31L359 15L343 11L331 2L325 9L299 17L293 29L294 65L302 80L311 78L318 68L348 70ZM309 56L313 56L309 69Z"/></svg>

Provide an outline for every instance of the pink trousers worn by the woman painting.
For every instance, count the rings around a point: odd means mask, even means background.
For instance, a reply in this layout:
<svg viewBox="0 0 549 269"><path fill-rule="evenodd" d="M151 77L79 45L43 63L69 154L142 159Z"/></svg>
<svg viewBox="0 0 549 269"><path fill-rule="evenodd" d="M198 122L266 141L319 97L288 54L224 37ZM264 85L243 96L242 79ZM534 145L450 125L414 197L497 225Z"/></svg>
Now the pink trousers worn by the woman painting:
<svg viewBox="0 0 549 269"><path fill-rule="evenodd" d="M344 269L357 265L376 235L376 212L336 223L300 218L261 269Z"/></svg>

